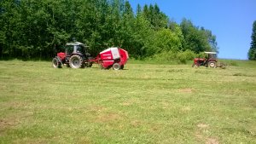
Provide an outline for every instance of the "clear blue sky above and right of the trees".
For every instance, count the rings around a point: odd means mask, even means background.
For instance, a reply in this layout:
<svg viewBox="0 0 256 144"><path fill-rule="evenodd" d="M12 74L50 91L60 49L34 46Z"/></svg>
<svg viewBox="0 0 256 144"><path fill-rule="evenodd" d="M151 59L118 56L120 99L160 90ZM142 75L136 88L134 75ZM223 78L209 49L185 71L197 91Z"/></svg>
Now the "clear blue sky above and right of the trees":
<svg viewBox="0 0 256 144"><path fill-rule="evenodd" d="M177 23L183 18L195 26L211 30L217 37L218 57L247 60L256 20L256 0L129 0L137 4L157 3L160 10Z"/></svg>

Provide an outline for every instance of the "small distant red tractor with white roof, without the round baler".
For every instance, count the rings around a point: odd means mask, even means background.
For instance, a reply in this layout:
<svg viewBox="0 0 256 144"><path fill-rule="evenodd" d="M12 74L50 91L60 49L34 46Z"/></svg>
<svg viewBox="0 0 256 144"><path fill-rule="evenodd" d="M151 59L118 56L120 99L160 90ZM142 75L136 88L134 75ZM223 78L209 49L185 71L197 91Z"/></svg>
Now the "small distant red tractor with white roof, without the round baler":
<svg viewBox="0 0 256 144"><path fill-rule="evenodd" d="M205 52L207 58L195 58L192 67L207 66L215 68L217 67L217 53L216 52Z"/></svg>

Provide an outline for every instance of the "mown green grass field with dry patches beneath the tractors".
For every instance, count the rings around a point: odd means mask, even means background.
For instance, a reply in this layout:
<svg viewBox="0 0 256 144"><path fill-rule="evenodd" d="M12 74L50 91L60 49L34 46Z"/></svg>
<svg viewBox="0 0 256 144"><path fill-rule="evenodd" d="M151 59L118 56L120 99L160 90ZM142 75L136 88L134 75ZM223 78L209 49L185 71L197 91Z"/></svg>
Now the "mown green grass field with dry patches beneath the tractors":
<svg viewBox="0 0 256 144"><path fill-rule="evenodd" d="M256 61L235 64L0 61L0 143L256 143Z"/></svg>

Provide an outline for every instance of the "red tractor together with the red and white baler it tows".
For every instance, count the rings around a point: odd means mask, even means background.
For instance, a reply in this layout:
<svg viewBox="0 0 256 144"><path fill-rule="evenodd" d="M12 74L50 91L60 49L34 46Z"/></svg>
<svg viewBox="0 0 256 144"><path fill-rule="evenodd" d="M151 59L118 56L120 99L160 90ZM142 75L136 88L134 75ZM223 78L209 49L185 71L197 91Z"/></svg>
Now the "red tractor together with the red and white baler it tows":
<svg viewBox="0 0 256 144"><path fill-rule="evenodd" d="M128 52L120 48L105 49L96 58L92 59L90 54L87 53L86 46L83 43L75 42L67 43L65 53L58 53L52 63L55 68L61 68L62 65L83 68L97 63L102 69L113 67L113 70L119 70L124 69L128 59Z"/></svg>

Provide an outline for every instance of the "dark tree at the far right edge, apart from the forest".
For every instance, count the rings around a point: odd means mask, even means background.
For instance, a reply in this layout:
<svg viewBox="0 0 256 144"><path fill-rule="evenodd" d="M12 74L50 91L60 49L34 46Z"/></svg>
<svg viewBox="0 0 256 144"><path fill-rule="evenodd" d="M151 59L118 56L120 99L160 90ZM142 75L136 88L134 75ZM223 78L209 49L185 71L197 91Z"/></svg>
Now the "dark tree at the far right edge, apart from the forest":
<svg viewBox="0 0 256 144"><path fill-rule="evenodd" d="M252 33L251 47L248 51L248 59L256 60L256 20L253 22L253 33Z"/></svg>

